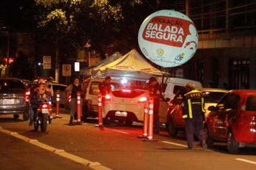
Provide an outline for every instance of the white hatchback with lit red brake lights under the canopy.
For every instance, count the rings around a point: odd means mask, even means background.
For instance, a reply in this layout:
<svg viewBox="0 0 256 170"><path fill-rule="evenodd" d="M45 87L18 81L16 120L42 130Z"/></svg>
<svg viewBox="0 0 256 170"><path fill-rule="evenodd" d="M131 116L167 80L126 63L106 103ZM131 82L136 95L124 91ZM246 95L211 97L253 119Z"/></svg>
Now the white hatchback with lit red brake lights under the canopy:
<svg viewBox="0 0 256 170"><path fill-rule="evenodd" d="M149 89L143 86L129 86L114 89L106 96L103 105L105 122L124 121L125 125L143 122L144 105L149 99ZM166 115L168 103L160 99L159 114ZM165 119L166 120L166 119Z"/></svg>

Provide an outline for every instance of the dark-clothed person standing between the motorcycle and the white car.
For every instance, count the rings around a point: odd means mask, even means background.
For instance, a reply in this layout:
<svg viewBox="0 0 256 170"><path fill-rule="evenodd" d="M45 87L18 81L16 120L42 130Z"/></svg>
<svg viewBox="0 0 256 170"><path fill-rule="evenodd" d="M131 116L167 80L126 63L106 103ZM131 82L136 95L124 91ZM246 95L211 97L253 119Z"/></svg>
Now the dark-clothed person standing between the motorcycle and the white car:
<svg viewBox="0 0 256 170"><path fill-rule="evenodd" d="M70 84L66 90L68 90L71 95L71 112L70 112L69 124L72 125L73 118L74 118L74 112L76 111L77 93L80 92L81 94L83 94L83 86L79 82L79 78L75 77L74 82L72 84ZM83 103L82 96L81 96L81 103ZM83 113L82 108L83 107L81 105L81 113Z"/></svg>

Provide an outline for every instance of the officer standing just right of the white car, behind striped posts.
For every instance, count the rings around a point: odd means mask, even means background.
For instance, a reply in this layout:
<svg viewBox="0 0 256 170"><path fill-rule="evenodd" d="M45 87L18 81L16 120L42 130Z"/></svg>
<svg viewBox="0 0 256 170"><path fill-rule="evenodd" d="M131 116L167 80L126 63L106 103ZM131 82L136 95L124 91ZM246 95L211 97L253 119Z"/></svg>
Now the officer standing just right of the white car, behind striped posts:
<svg viewBox="0 0 256 170"><path fill-rule="evenodd" d="M160 132L160 125L159 125L159 115L158 115L158 108L160 105L159 99L161 97L161 86L156 81L155 77L149 78L149 85L151 86L151 97L153 97L154 100L154 106L153 106L153 118L154 118L154 133Z"/></svg>

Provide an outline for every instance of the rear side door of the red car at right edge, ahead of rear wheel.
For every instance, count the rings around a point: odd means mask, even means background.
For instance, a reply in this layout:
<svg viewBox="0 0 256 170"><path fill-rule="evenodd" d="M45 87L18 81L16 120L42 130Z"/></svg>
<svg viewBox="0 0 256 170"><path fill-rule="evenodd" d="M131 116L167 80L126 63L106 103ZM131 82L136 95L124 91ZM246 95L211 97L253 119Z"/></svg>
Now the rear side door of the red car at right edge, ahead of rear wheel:
<svg viewBox="0 0 256 170"><path fill-rule="evenodd" d="M214 118L217 139L226 140L229 120L232 116L234 116L237 113L239 101L240 96L238 94L230 94L229 98L224 103L223 110L220 110L219 113Z"/></svg>

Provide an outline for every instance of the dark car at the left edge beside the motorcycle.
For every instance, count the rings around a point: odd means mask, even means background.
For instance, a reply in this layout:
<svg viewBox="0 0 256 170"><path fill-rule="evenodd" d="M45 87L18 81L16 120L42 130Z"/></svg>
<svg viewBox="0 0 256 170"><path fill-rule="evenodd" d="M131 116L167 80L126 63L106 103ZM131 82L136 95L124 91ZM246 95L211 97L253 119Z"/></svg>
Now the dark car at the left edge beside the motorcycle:
<svg viewBox="0 0 256 170"><path fill-rule="evenodd" d="M23 115L23 120L28 120L30 103L29 92L21 79L0 78L0 115L14 115L19 118Z"/></svg>

